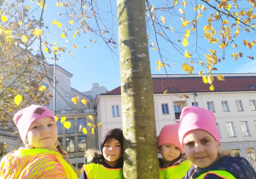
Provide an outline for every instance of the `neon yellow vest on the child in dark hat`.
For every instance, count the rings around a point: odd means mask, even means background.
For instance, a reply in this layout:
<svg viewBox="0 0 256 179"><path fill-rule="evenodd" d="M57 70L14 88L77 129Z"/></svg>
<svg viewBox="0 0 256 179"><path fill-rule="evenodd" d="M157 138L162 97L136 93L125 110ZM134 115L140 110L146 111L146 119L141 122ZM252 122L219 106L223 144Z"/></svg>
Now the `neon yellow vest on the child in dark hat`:
<svg viewBox="0 0 256 179"><path fill-rule="evenodd" d="M123 169L108 169L99 164L84 165L84 170L88 179L122 179Z"/></svg>

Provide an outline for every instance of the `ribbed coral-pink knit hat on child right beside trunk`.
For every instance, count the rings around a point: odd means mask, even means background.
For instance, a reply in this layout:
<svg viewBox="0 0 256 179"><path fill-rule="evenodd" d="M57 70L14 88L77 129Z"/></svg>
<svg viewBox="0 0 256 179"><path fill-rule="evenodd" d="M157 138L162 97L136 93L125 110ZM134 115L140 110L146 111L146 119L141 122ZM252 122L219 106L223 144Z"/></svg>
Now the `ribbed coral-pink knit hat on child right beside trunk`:
<svg viewBox="0 0 256 179"><path fill-rule="evenodd" d="M182 153L183 147L178 141L177 130L178 124L165 125L160 131L160 135L157 137L157 147L166 143L171 143L172 145L177 146Z"/></svg>

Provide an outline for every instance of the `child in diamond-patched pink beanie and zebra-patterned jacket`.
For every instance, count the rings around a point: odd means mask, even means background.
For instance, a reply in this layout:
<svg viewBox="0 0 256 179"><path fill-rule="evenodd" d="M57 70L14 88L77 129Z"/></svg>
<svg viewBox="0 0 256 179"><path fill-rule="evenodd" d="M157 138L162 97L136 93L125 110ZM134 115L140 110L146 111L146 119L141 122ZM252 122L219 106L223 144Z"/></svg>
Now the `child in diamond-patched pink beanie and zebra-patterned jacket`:
<svg viewBox="0 0 256 179"><path fill-rule="evenodd" d="M38 105L26 107L15 113L14 122L25 147L3 157L0 178L78 178L72 166L61 156L67 153L58 145L57 124L49 108Z"/></svg>

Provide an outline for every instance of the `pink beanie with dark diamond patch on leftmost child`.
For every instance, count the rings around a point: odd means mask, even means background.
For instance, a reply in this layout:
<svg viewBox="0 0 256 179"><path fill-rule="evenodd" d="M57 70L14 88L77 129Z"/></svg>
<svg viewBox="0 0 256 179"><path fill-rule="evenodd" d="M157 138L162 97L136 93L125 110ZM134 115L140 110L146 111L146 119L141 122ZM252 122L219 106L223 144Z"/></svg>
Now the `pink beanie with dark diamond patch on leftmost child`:
<svg viewBox="0 0 256 179"><path fill-rule="evenodd" d="M49 116L55 121L54 114L47 107L32 105L15 113L14 122L20 132L21 140L25 143L26 133L33 121Z"/></svg>

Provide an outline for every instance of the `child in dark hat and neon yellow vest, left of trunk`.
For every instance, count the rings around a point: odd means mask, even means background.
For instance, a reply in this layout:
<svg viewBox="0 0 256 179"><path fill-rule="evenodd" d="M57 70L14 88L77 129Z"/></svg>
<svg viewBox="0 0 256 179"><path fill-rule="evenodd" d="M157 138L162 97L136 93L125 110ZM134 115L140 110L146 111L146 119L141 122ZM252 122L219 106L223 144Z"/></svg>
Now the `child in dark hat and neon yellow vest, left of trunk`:
<svg viewBox="0 0 256 179"><path fill-rule="evenodd" d="M85 152L88 162L83 166L79 179L122 179L123 177L123 131L108 129L102 136L102 153Z"/></svg>

